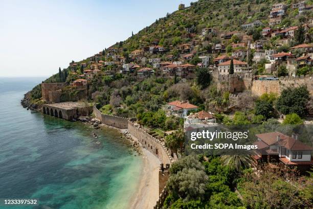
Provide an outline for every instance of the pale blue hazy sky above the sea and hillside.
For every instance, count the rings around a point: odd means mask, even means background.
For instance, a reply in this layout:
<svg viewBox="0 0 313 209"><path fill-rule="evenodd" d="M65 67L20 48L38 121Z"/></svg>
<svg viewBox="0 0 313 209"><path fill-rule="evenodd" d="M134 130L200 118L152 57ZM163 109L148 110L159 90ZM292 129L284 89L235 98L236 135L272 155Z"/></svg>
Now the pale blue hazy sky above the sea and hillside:
<svg viewBox="0 0 313 209"><path fill-rule="evenodd" d="M49 77L192 1L0 2L0 77Z"/></svg>

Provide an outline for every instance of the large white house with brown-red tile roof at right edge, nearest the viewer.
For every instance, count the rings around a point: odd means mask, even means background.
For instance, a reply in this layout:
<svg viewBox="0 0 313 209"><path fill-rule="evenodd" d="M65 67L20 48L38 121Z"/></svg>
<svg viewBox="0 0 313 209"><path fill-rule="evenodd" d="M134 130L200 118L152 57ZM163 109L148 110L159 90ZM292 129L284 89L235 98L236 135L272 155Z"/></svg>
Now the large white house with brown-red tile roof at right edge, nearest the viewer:
<svg viewBox="0 0 313 209"><path fill-rule="evenodd" d="M313 147L299 141L298 135L291 137L280 132L256 134L257 154L253 158L258 162L279 162L285 166L309 168L313 165L311 151Z"/></svg>

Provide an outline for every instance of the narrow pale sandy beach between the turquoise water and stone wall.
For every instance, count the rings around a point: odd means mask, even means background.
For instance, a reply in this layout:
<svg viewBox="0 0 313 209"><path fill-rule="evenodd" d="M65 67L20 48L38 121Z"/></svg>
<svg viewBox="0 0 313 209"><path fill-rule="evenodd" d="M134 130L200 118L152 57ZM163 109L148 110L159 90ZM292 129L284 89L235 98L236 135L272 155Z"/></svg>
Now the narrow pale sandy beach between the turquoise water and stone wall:
<svg viewBox="0 0 313 209"><path fill-rule="evenodd" d="M133 209L152 209L159 199L160 160L146 149L142 149L144 165L138 192L130 200Z"/></svg>

